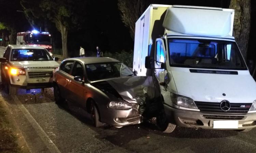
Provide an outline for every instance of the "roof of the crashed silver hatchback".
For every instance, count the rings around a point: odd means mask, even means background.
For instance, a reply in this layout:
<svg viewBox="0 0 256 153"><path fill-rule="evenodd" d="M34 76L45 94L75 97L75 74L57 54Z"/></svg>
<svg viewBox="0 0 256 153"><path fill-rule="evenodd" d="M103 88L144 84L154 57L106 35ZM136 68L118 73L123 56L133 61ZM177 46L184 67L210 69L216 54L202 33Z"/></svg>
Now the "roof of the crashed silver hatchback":
<svg viewBox="0 0 256 153"><path fill-rule="evenodd" d="M120 62L114 58L109 58L109 57L76 57L76 58L67 58L64 61L68 61L68 60L79 61L84 64Z"/></svg>

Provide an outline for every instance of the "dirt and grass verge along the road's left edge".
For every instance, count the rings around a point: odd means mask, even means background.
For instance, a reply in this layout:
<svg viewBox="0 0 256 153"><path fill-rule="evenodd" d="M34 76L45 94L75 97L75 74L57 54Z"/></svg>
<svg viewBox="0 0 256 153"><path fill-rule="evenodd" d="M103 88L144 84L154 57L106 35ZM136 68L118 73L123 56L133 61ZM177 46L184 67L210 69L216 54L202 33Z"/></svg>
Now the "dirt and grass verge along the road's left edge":
<svg viewBox="0 0 256 153"><path fill-rule="evenodd" d="M0 95L0 152L30 152L12 114Z"/></svg>

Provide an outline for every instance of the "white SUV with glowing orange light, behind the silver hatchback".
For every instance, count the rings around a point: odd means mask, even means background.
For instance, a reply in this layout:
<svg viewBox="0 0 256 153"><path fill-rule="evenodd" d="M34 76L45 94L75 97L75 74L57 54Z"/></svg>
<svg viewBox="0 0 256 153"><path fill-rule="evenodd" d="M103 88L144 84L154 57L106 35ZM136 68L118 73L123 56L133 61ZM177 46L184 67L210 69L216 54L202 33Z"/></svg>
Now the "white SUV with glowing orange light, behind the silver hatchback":
<svg viewBox="0 0 256 153"><path fill-rule="evenodd" d="M0 58L2 83L10 95L17 88L52 87L53 71L59 66L56 61L43 47L8 45Z"/></svg>

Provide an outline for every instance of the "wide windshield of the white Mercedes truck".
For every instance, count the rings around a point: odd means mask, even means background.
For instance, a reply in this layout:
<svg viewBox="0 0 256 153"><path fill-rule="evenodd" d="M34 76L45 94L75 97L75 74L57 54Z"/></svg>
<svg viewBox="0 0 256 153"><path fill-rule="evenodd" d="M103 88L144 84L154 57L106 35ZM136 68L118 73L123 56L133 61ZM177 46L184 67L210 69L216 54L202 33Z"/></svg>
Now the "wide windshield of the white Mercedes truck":
<svg viewBox="0 0 256 153"><path fill-rule="evenodd" d="M207 39L169 39L174 67L247 70L237 44Z"/></svg>

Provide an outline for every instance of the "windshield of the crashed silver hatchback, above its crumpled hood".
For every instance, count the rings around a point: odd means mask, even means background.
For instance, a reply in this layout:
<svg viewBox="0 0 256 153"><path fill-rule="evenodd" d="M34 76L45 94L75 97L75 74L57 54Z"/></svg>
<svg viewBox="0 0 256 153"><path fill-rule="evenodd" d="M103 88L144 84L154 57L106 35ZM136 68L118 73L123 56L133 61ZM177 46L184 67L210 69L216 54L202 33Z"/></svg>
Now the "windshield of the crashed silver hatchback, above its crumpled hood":
<svg viewBox="0 0 256 153"><path fill-rule="evenodd" d="M120 62L87 64L86 73L90 81L134 76L130 68Z"/></svg>

